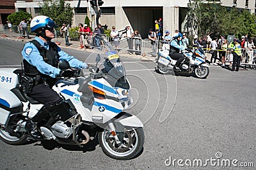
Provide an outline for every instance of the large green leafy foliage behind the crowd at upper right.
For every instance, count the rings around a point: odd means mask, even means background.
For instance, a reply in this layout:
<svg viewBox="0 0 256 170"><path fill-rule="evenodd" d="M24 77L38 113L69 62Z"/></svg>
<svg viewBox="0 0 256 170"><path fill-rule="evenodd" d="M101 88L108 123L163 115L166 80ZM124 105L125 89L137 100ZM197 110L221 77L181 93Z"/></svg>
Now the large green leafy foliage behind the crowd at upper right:
<svg viewBox="0 0 256 170"><path fill-rule="evenodd" d="M256 35L255 15L250 11L212 2L189 0L187 25L195 31L195 34L198 36Z"/></svg>

